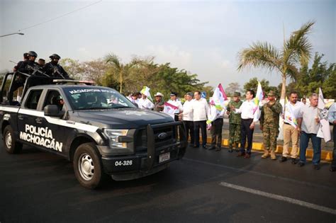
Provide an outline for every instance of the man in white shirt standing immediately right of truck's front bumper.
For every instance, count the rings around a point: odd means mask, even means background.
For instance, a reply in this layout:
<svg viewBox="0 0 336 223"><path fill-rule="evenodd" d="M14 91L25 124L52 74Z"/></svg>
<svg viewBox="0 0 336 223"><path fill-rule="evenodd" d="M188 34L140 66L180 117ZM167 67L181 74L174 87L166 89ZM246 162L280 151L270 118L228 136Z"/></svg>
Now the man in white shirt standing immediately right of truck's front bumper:
<svg viewBox="0 0 336 223"><path fill-rule="evenodd" d="M194 116L193 116L193 93L186 93L186 101L183 104L183 113L180 114L184 124L186 125L186 139L189 138L190 134L190 144L194 146L195 137L194 137Z"/></svg>

